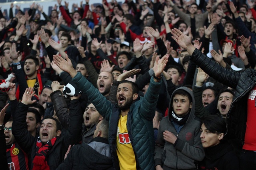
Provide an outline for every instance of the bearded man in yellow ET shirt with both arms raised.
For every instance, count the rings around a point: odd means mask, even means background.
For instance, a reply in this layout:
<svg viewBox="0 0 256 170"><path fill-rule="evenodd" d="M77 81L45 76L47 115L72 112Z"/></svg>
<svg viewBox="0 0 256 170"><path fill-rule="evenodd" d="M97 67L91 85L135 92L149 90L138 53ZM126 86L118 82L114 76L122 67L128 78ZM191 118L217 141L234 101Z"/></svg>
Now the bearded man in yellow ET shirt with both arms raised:
<svg viewBox="0 0 256 170"><path fill-rule="evenodd" d="M109 144L113 166L116 169L154 168L154 134L152 120L161 87L161 73L168 55L156 57L149 88L145 97L138 99L138 87L130 81L121 81L117 87L117 104L111 104L93 85L72 67L71 60L54 55L54 63L67 71L72 81L87 94L97 111L109 124ZM159 61L159 62L158 62ZM131 75L139 70L130 70Z"/></svg>

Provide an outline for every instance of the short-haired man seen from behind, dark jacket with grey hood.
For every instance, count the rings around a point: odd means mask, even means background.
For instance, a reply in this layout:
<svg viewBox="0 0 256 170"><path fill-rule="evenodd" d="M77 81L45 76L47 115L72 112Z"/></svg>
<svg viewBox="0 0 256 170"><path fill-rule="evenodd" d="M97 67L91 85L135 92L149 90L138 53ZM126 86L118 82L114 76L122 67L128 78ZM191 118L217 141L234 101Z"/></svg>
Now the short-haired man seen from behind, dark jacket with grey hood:
<svg viewBox="0 0 256 170"><path fill-rule="evenodd" d="M108 131L109 123L103 119L93 133L93 140L88 144L83 142L73 146L57 170L112 170Z"/></svg>

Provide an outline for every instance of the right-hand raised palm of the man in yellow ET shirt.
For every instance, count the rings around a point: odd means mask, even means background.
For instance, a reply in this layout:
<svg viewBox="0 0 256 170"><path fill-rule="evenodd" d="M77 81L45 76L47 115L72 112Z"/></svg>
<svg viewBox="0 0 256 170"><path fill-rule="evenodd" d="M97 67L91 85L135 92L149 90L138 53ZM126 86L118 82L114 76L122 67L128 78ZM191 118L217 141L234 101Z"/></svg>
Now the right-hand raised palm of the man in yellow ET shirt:
<svg viewBox="0 0 256 170"><path fill-rule="evenodd" d="M155 57L155 64L153 67L155 77L160 77L161 73L163 72L166 63L168 62L169 54L164 55L161 59L159 59L159 55Z"/></svg>

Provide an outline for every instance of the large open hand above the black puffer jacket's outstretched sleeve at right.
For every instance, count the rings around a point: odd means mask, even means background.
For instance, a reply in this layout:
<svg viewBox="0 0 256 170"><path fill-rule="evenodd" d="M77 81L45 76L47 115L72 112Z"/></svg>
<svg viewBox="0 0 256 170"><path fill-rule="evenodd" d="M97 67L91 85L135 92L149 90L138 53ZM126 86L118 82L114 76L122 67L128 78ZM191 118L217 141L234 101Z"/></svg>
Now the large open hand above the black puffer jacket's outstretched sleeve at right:
<svg viewBox="0 0 256 170"><path fill-rule="evenodd" d="M187 47L191 45L191 40L192 40L191 30L189 30L189 36L186 36L177 28L172 29L171 34L173 35L171 36L171 38L173 38L173 40L175 40L175 42L177 42L179 46L181 46L182 48L187 49Z"/></svg>

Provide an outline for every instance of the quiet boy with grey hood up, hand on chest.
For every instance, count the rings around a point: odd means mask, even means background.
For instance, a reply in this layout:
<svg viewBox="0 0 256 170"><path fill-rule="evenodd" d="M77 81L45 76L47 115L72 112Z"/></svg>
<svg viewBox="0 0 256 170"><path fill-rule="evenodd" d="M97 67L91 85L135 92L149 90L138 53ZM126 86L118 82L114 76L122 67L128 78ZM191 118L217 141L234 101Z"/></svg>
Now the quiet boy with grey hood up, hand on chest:
<svg viewBox="0 0 256 170"><path fill-rule="evenodd" d="M200 140L200 119L196 118L195 100L187 87L176 89L170 100L168 116L160 121L155 146L155 166L164 170L197 169L204 159Z"/></svg>

